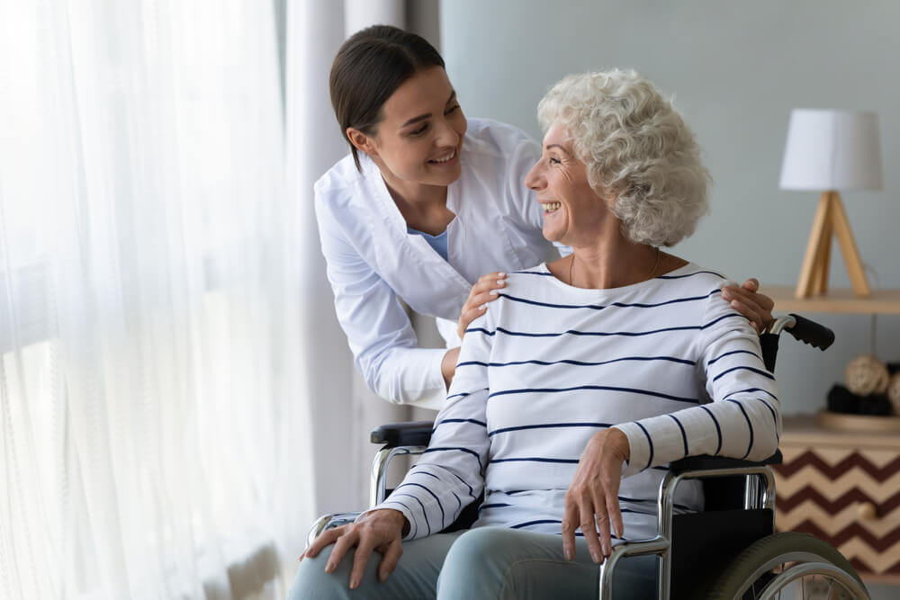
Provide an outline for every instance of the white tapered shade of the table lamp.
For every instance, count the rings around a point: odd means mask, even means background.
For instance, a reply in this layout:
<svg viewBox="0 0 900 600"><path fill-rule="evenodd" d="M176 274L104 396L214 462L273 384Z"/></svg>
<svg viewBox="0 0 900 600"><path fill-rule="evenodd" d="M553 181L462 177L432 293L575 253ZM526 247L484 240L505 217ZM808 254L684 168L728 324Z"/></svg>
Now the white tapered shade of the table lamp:
<svg viewBox="0 0 900 600"><path fill-rule="evenodd" d="M788 125L783 190L880 190L874 112L794 109Z"/></svg>

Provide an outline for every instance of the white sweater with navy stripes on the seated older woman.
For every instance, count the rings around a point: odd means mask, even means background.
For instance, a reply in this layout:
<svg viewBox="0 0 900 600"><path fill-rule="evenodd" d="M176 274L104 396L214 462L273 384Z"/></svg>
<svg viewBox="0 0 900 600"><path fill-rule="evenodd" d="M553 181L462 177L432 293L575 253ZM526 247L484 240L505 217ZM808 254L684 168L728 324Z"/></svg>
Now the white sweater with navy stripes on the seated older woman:
<svg viewBox="0 0 900 600"><path fill-rule="evenodd" d="M761 460L778 447L775 381L759 337L722 299L725 279L688 264L647 282L585 290L545 264L510 273L466 330L428 450L381 508L438 533L484 491L475 527L561 533L590 436L626 434L626 539L655 534L667 464L687 455ZM676 509L698 510L697 481Z"/></svg>

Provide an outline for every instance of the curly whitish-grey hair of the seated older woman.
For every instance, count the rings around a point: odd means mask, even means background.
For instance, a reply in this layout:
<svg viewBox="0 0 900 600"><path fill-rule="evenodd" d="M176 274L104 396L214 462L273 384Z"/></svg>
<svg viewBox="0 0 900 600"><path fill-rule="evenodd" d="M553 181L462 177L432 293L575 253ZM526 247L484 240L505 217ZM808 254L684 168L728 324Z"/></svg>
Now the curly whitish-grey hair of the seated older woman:
<svg viewBox="0 0 900 600"><path fill-rule="evenodd" d="M709 210L711 179L693 131L635 71L565 76L537 105L537 119L572 139L590 187L633 242L674 246Z"/></svg>

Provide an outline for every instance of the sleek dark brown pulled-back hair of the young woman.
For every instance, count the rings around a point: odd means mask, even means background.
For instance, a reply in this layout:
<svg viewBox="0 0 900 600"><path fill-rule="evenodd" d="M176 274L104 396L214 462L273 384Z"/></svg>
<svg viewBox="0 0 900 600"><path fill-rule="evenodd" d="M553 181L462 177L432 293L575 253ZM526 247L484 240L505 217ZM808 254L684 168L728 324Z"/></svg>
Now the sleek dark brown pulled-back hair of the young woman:
<svg viewBox="0 0 900 600"><path fill-rule="evenodd" d="M338 49L329 78L331 106L347 142L348 127L373 135L391 94L428 67L444 68L444 58L415 33L374 25L351 35ZM352 143L350 151L356 168L362 170Z"/></svg>

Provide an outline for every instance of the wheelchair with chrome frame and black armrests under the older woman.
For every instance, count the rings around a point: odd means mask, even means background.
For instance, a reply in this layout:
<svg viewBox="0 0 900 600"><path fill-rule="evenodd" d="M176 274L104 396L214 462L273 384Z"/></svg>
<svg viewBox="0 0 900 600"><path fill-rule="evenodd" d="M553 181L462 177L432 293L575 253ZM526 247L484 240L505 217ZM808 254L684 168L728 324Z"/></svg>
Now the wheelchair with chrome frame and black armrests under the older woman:
<svg viewBox="0 0 900 600"><path fill-rule="evenodd" d="M782 331L821 350L834 341L833 332L814 321L794 314L777 318L761 336L763 361L770 372L775 370ZM374 429L371 440L383 447L373 461L371 506L380 504L391 491L388 463L399 455L424 452L432 426L419 421ZM804 600L869 600L859 574L832 546L806 533L775 533L775 479L769 465L780 462L781 452L761 462L712 456L672 462L657 497L656 535L613 547L599 569L598 597L615 597L613 573L620 560L656 555L660 600L767 599L783 594ZM701 480L706 506L698 513L675 514L675 490L689 479ZM467 529L477 517L477 505L467 506L445 531ZM352 523L357 515L320 517L308 543L326 529Z"/></svg>

